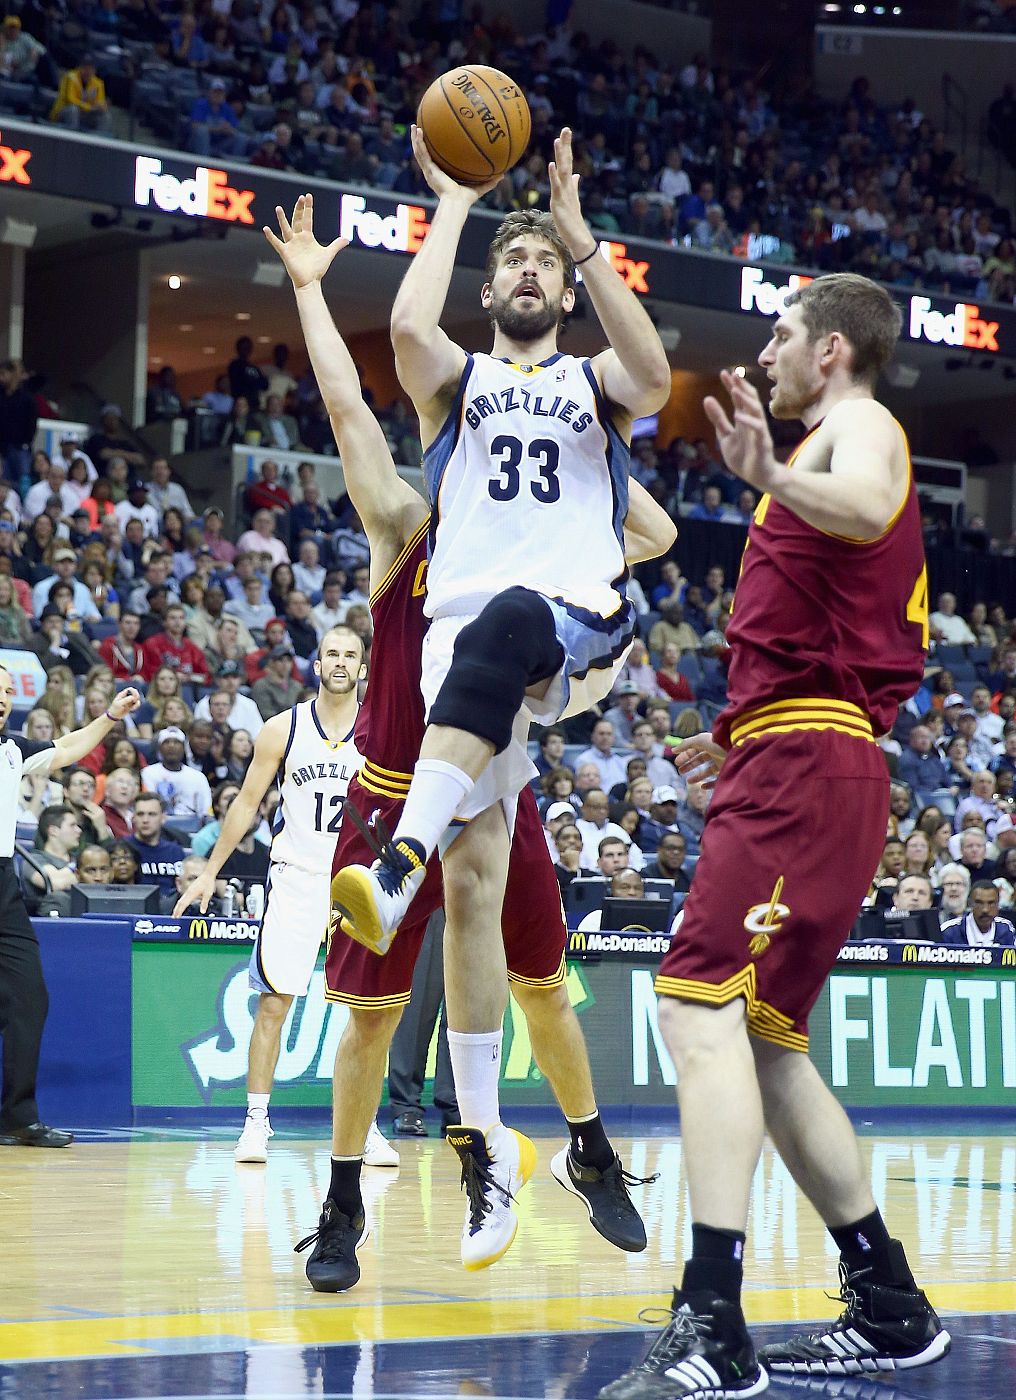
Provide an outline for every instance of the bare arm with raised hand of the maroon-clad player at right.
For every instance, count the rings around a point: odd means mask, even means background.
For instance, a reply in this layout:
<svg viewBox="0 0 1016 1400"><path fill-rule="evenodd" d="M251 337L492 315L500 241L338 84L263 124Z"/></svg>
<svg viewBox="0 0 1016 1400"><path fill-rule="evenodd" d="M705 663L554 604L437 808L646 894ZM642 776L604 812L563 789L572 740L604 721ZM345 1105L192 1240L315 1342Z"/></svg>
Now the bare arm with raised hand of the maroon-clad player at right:
<svg viewBox="0 0 1016 1400"><path fill-rule="evenodd" d="M759 391L724 371L733 403L705 399L717 442L731 470L768 493L816 529L856 540L884 532L905 491L905 449L891 414L875 399L848 399L830 410L816 433L810 463L784 466Z"/></svg>

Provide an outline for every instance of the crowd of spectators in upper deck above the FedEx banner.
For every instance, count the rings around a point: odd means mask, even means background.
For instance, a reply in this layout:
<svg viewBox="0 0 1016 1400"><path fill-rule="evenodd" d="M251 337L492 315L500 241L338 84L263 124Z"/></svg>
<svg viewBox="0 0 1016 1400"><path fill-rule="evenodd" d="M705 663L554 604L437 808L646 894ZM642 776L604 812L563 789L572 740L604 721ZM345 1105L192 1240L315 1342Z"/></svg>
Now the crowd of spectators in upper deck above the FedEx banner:
<svg viewBox="0 0 1016 1400"><path fill-rule="evenodd" d="M458 62L493 63L533 116L528 155L486 199L494 210L546 204L553 139L570 125L586 217L605 235L1016 297L1010 211L903 88L875 92L858 77L840 102L768 91L704 53L661 63L645 43L593 42L570 8L521 34L460 0L223 0L179 13L28 0L3 25L0 74L55 83L49 118L73 127L108 130L111 106L130 102L202 157L420 195L407 127L421 94ZM1012 87L989 136L1016 150Z"/></svg>

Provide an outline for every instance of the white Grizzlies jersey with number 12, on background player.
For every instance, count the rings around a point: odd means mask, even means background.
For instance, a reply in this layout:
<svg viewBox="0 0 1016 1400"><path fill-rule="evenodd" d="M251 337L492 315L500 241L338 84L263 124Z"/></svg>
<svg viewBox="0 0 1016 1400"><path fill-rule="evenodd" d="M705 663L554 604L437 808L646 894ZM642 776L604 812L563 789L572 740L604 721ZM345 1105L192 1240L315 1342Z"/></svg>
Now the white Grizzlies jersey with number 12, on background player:
<svg viewBox="0 0 1016 1400"><path fill-rule="evenodd" d="M271 860L330 875L346 791L362 759L353 748L353 725L337 743L327 738L315 700L294 706L290 714Z"/></svg>

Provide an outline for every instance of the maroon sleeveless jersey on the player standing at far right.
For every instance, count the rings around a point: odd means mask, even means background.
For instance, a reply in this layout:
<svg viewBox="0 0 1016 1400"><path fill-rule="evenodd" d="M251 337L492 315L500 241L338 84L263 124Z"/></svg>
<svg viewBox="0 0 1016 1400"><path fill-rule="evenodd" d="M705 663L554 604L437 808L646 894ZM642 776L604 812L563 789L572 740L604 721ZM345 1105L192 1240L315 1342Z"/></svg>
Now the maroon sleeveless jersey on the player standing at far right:
<svg viewBox="0 0 1016 1400"><path fill-rule="evenodd" d="M912 468L900 510L873 540L816 529L764 496L749 529L726 638L728 707L717 720L718 742L731 742L731 728L746 711L788 700L856 706L876 735L890 729L921 683L928 647L928 571Z"/></svg>

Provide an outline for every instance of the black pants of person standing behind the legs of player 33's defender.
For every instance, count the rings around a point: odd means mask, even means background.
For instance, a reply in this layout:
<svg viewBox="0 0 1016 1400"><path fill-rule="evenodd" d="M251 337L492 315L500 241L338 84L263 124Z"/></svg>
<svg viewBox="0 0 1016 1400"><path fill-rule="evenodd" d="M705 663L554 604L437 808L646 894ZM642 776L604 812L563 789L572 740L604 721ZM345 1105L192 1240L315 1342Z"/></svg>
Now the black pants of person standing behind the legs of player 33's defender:
<svg viewBox="0 0 1016 1400"><path fill-rule="evenodd" d="M399 1029L392 1040L388 1060L388 1098L392 1114L397 1117L406 1109L420 1109L420 1096L427 1070L434 1022L441 1011L438 1029L438 1063L434 1072L434 1107L458 1117L455 1105L455 1079L448 1054L448 1015L444 1007L445 962L444 962L445 916L438 911L427 924L427 934L413 972L413 994L402 1014Z"/></svg>

